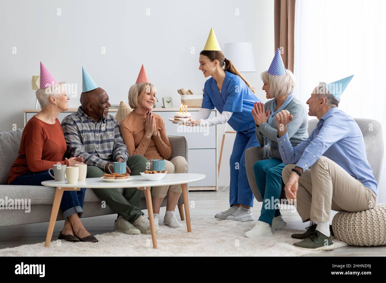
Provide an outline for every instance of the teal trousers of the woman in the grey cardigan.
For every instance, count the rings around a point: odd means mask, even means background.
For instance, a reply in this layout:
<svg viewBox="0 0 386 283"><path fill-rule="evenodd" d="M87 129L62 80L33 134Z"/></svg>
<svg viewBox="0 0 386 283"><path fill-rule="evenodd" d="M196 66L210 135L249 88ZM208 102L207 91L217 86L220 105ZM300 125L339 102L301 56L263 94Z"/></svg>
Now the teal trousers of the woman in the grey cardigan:
<svg viewBox="0 0 386 283"><path fill-rule="evenodd" d="M280 204L282 178L281 172L285 164L276 158L256 161L253 165L257 189L259 189L263 204L259 221L272 226L272 219L280 216ZM277 204L278 203L278 204Z"/></svg>

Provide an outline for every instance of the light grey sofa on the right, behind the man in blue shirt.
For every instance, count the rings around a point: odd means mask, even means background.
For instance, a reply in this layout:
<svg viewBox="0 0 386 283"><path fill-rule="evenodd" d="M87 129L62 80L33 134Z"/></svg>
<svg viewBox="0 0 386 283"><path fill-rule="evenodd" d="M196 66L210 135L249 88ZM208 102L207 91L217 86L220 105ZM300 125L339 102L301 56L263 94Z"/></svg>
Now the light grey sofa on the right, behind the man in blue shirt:
<svg viewBox="0 0 386 283"><path fill-rule="evenodd" d="M381 176L381 169L382 169L382 160L383 160L383 135L382 135L382 127L381 123L379 123L376 120L371 119L354 119L359 128L362 131L363 138L364 138L364 144L366 147L366 153L367 153L367 160L370 163L370 166L372 168L372 172L374 173L374 177L379 183L379 178ZM316 124L318 123L318 119L312 119L308 121L308 134L312 132L312 130L315 128ZM253 164L256 161L259 161L263 157L263 147L256 146L256 147L250 147L245 151L245 167L247 169L247 178L249 181L249 186L251 186L252 189L256 189L256 182L255 182L255 175L253 172ZM285 193L284 193L284 186L282 187L281 191L281 199L285 199ZM262 201L262 198L259 195L255 195L255 198L257 201Z"/></svg>

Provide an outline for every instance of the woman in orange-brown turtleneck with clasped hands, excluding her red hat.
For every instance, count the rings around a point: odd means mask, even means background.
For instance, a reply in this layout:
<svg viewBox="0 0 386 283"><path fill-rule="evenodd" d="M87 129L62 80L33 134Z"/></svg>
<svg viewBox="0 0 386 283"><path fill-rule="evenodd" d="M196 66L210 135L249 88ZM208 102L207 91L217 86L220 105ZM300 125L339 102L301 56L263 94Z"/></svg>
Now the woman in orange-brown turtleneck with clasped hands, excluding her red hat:
<svg viewBox="0 0 386 283"><path fill-rule="evenodd" d="M140 154L150 162L152 170L153 159L164 159L165 170L169 173L188 172L188 162L183 156L171 157L171 146L165 130L165 123L161 116L152 113L156 100L156 88L149 82L134 84L129 90L129 104L132 109L127 117L119 123L123 140L129 151L129 155ZM174 209L181 195L180 185L154 187L151 189L154 223L156 231L159 229L159 209L166 194L166 214L164 224L172 228L181 227Z"/></svg>

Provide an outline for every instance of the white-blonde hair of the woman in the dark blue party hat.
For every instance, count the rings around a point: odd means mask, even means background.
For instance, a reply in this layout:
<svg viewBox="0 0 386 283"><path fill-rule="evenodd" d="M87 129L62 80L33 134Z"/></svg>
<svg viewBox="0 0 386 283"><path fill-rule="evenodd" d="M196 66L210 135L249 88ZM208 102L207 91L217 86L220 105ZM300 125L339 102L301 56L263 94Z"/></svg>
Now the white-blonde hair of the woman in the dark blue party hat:
<svg viewBox="0 0 386 283"><path fill-rule="evenodd" d="M295 75L290 70L286 71L285 75L271 75L268 71L261 73L261 80L264 84L269 83L271 98L294 92L296 85Z"/></svg>

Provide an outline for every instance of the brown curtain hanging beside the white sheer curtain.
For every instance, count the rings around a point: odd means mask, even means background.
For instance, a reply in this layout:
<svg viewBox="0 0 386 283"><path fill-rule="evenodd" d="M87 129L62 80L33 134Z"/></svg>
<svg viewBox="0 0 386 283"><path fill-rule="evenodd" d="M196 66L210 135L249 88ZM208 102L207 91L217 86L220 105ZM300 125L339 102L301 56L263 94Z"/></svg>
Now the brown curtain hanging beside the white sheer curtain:
<svg viewBox="0 0 386 283"><path fill-rule="evenodd" d="M295 0L275 0L275 50L280 49L286 69L293 72Z"/></svg>

